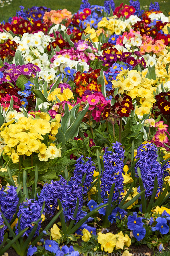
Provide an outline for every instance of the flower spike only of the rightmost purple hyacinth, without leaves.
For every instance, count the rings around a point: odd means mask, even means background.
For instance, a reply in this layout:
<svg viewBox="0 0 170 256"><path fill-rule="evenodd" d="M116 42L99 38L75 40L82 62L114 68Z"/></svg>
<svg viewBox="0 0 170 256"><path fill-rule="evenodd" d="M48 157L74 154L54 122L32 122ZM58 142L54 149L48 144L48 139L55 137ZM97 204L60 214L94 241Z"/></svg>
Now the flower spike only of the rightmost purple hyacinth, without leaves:
<svg viewBox="0 0 170 256"><path fill-rule="evenodd" d="M135 172L137 175L137 167L140 168L143 186L146 189L145 195L151 196L155 177L158 180L157 194L162 189L164 168L157 161L157 148L153 143L141 144L137 149L136 158L140 158L136 163Z"/></svg>

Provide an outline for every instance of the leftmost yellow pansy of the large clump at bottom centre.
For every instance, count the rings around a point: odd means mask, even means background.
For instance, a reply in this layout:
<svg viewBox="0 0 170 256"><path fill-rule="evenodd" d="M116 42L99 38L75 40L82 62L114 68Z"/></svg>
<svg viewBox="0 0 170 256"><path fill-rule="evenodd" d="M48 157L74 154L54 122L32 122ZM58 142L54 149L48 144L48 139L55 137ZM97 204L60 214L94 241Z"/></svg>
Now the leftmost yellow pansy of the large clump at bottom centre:
<svg viewBox="0 0 170 256"><path fill-rule="evenodd" d="M116 236L111 232L102 234L98 233L98 243L101 244L101 250L104 249L105 252L112 253L116 245Z"/></svg>

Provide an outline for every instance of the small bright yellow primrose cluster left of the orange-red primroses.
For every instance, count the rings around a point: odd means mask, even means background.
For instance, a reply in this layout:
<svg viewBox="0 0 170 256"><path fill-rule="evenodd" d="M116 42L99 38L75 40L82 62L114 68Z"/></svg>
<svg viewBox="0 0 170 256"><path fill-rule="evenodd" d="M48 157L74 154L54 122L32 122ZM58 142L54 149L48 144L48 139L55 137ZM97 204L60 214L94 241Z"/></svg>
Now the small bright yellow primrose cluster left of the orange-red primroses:
<svg viewBox="0 0 170 256"><path fill-rule="evenodd" d="M61 93L61 88L55 88L54 91L52 91L49 95L48 95L48 100L49 101L53 101L56 100L56 97L60 100L60 101L68 101L69 99L73 98L73 93L70 89L66 88L63 90L63 93Z"/></svg>

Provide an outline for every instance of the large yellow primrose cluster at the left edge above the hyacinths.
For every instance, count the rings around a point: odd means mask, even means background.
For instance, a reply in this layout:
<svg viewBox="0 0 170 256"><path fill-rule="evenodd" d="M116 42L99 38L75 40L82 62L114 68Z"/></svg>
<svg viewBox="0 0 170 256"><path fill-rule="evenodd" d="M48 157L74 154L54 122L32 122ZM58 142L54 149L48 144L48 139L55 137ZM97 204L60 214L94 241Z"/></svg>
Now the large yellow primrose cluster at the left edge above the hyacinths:
<svg viewBox="0 0 170 256"><path fill-rule="evenodd" d="M44 135L49 135L49 140L54 141L58 128L61 126L60 114L55 116L50 122L47 113L34 113L33 116L21 117L19 120L12 120L9 125L3 124L0 137L4 140L4 154L10 156L13 163L19 162L19 155L30 156L33 152L38 154L40 161L48 161L61 157L61 148L57 148L53 143L48 147L43 143Z"/></svg>

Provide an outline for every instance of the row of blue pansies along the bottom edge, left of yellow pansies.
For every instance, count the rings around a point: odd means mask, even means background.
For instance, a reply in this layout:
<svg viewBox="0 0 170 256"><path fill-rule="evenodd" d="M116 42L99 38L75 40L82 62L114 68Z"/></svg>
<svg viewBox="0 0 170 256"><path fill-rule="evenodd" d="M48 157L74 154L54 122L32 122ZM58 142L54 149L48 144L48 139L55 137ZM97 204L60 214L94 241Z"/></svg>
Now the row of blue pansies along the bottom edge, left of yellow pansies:
<svg viewBox="0 0 170 256"><path fill-rule="evenodd" d="M43 239L42 239L43 240ZM46 240L44 241L44 248L48 252L54 253L56 256L79 256L78 251L74 251L73 246L71 245L68 247L67 245L64 245L61 250L60 247L58 246L58 243L53 240ZM28 253L27 256L32 256L35 252L37 251L37 247L30 245L28 248Z"/></svg>

